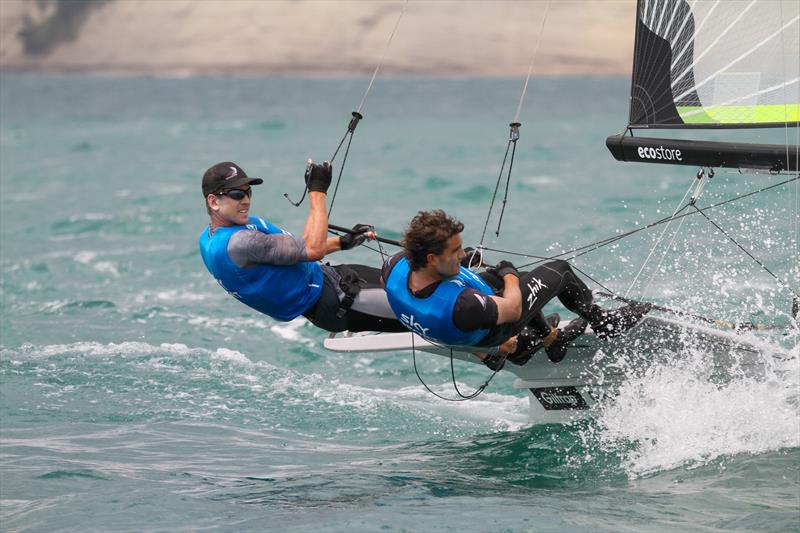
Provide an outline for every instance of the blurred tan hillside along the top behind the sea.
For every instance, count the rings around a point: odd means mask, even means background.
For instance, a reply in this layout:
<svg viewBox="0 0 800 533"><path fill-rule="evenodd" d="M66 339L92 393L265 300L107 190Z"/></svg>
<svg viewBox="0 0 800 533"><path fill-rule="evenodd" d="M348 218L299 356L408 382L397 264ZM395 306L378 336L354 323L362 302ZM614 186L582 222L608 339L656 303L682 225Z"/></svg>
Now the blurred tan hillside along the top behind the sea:
<svg viewBox="0 0 800 533"><path fill-rule="evenodd" d="M0 0L4 71L365 74L402 1ZM415 1L386 54L394 74L520 76L545 1ZM630 73L634 0L559 0L540 75Z"/></svg>

